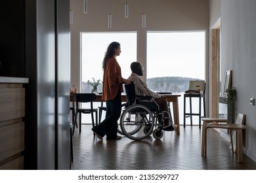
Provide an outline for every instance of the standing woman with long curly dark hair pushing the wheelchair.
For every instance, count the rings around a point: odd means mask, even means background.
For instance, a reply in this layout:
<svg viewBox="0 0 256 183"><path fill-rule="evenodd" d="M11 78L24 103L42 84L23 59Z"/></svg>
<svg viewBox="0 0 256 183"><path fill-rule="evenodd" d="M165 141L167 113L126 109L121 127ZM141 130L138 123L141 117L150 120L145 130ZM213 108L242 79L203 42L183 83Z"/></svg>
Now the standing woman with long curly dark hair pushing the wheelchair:
<svg viewBox="0 0 256 183"><path fill-rule="evenodd" d="M116 56L121 53L119 42L111 42L106 51L102 62L103 86L102 100L106 101L106 118L99 125L92 128L98 139L121 139L117 135L117 120L121 115L121 92L123 83L129 84L130 81L122 78L121 68L117 63Z"/></svg>

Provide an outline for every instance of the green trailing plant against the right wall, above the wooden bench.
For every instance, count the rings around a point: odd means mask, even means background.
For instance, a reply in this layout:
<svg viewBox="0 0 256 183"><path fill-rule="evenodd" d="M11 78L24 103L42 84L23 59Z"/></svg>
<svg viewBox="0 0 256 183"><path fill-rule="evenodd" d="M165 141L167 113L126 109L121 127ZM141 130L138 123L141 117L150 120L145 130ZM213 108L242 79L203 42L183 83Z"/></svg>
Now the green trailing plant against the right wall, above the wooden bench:
<svg viewBox="0 0 256 183"><path fill-rule="evenodd" d="M235 110L236 110L236 88L226 89L226 103L228 105L228 122L234 123Z"/></svg>

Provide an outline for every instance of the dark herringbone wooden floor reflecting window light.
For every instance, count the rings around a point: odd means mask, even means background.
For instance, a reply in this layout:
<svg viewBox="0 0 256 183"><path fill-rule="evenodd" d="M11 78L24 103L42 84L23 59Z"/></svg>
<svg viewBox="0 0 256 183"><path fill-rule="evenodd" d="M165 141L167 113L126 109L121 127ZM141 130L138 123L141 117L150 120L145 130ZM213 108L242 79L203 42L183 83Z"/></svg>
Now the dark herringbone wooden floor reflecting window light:
<svg viewBox="0 0 256 183"><path fill-rule="evenodd" d="M256 170L256 163L244 155L237 163L229 143L213 129L207 131L207 158L201 156L202 129L181 126L181 135L165 131L160 140L149 137L131 141L100 141L93 136L91 125L75 129L74 170Z"/></svg>

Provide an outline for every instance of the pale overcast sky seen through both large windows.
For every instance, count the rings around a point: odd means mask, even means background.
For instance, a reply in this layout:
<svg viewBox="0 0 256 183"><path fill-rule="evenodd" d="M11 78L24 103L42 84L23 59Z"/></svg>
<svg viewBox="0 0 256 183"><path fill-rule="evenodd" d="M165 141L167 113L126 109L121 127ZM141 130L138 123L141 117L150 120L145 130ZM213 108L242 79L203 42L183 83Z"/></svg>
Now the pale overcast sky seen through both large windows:
<svg viewBox="0 0 256 183"><path fill-rule="evenodd" d="M108 44L121 44L117 61L123 78L137 61L136 32L81 33L82 80L102 80L102 60ZM205 79L205 32L148 32L147 77L184 76Z"/></svg>

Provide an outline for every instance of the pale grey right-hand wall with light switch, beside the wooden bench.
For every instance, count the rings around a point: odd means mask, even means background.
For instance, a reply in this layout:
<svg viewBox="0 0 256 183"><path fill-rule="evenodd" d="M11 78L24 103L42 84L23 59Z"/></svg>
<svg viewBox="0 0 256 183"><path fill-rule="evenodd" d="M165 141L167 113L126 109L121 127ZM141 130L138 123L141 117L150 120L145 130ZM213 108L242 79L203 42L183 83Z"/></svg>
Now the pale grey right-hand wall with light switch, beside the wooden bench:
<svg viewBox="0 0 256 183"><path fill-rule="evenodd" d="M233 72L236 111L246 114L245 154L256 161L256 107L249 104L251 97L256 98L256 1L221 0L218 4L210 8L210 24L221 16L221 74L224 78L227 70Z"/></svg>

